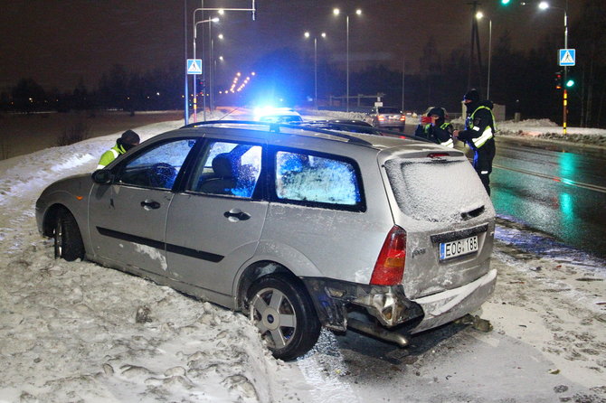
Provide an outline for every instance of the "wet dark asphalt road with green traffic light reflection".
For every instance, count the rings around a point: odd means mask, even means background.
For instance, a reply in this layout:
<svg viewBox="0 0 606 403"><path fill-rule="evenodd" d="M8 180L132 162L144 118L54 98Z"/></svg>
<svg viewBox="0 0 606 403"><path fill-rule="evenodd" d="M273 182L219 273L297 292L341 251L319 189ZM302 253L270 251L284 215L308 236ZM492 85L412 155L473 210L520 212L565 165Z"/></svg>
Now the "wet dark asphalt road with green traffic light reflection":
<svg viewBox="0 0 606 403"><path fill-rule="evenodd" d="M497 214L606 258L606 151L500 137L490 181Z"/></svg>

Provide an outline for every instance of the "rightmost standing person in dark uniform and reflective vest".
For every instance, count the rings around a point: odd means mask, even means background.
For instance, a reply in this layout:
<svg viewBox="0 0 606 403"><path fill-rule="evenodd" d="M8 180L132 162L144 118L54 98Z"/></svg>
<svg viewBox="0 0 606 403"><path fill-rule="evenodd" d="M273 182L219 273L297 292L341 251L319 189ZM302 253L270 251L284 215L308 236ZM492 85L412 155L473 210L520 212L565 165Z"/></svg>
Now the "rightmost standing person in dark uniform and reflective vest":
<svg viewBox="0 0 606 403"><path fill-rule="evenodd" d="M467 107L467 120L464 130L455 130L452 137L465 142L473 150L473 167L490 195L490 173L492 160L495 158L495 116L492 114L493 103L481 101L478 89L469 89L463 97Z"/></svg>

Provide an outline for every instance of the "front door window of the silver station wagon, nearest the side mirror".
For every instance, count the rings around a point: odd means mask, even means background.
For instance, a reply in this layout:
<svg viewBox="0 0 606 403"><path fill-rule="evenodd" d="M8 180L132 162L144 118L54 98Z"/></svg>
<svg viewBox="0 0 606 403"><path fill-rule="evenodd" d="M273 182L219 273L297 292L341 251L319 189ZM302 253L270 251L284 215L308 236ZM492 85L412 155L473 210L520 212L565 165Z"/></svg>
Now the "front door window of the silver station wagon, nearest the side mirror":
<svg viewBox="0 0 606 403"><path fill-rule="evenodd" d="M193 139L178 139L145 150L124 166L118 183L171 189L194 144Z"/></svg>

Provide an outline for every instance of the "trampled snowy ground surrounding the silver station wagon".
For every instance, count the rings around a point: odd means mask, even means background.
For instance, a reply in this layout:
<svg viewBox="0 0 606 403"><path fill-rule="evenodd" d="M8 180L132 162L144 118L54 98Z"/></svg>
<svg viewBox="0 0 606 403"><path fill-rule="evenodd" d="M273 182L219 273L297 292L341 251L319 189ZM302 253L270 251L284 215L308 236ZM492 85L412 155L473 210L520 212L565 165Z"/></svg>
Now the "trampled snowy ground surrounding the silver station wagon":
<svg viewBox="0 0 606 403"><path fill-rule="evenodd" d="M450 324L407 350L326 332L290 363L241 314L54 260L34 201L56 179L92 171L117 136L0 161L0 402L606 401L604 262L553 244L555 258L531 255L525 242L544 239L511 220L498 222L497 290L482 314L492 332ZM584 137L595 136L606 131Z"/></svg>

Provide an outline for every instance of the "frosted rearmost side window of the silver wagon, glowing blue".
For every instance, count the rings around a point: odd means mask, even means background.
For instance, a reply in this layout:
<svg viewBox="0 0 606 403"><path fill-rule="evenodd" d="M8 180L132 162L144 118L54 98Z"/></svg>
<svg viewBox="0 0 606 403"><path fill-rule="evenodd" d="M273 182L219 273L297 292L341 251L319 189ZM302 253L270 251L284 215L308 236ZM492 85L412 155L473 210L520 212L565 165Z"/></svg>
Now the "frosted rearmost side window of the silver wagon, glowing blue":
<svg viewBox="0 0 606 403"><path fill-rule="evenodd" d="M275 177L278 199L363 209L358 171L349 162L279 151Z"/></svg>

